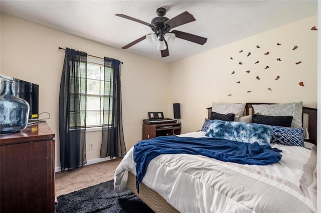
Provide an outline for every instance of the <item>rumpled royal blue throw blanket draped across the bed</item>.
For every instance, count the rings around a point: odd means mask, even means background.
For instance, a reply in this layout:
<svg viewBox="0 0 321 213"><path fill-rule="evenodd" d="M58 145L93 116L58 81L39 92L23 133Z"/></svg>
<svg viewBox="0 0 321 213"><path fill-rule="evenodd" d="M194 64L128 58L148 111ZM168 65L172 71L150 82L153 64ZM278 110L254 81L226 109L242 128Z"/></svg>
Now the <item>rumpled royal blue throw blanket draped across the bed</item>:
<svg viewBox="0 0 321 213"><path fill-rule="evenodd" d="M270 145L259 145L257 142L244 143L219 138L159 136L141 140L134 145L136 162L136 187L144 177L147 166L159 154L202 154L222 161L241 164L267 165L278 162L281 150Z"/></svg>

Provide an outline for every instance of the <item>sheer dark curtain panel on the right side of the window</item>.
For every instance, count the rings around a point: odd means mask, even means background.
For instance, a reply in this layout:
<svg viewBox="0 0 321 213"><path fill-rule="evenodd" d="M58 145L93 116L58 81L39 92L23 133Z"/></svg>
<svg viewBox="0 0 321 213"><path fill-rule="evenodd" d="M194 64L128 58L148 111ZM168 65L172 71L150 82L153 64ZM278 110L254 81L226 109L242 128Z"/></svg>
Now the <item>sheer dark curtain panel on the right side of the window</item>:
<svg viewBox="0 0 321 213"><path fill-rule="evenodd" d="M126 154L121 114L120 61L105 57L103 130L100 157Z"/></svg>

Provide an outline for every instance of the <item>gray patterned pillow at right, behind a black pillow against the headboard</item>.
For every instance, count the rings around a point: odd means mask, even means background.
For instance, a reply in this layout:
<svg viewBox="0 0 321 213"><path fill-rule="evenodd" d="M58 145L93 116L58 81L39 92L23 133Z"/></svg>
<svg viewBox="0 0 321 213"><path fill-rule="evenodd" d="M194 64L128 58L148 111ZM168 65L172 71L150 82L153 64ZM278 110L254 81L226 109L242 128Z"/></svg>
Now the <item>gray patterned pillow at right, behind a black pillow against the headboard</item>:
<svg viewBox="0 0 321 213"><path fill-rule="evenodd" d="M293 116L291 127L302 127L302 101L280 104L253 104L254 111L262 115Z"/></svg>

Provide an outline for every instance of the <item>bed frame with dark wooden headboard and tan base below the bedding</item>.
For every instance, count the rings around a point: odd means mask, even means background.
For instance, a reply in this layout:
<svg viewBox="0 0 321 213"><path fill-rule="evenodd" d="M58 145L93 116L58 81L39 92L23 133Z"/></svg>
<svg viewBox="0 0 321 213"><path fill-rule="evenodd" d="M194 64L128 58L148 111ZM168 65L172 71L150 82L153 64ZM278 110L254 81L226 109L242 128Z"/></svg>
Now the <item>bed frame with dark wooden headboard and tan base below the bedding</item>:
<svg viewBox="0 0 321 213"><path fill-rule="evenodd" d="M272 104L272 103L246 103L244 115L249 115L254 112L252 104ZM208 118L211 117L212 107L208 109ZM317 117L316 117L316 108L310 108L303 106L302 113L302 122L303 126L308 129L309 139L305 139L305 141L309 141L316 145L316 129L317 129ZM304 122L303 114L307 114L307 122ZM176 208L174 208L171 204L169 204L161 195L159 195L154 190L148 188L145 184L139 184L139 193L137 193L136 189L136 176L131 172L128 172L127 179L127 187L135 193L143 202L145 202L153 211L155 212L179 212Z"/></svg>

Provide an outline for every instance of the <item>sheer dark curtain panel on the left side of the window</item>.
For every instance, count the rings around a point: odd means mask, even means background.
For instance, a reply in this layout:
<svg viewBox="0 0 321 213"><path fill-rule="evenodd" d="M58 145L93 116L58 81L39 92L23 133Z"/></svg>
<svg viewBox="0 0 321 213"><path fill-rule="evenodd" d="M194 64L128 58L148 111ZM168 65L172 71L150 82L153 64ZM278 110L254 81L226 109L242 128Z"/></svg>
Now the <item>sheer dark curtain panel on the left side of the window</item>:
<svg viewBox="0 0 321 213"><path fill-rule="evenodd" d="M61 170L86 161L87 53L66 48L59 93Z"/></svg>

